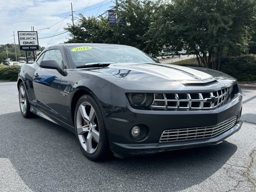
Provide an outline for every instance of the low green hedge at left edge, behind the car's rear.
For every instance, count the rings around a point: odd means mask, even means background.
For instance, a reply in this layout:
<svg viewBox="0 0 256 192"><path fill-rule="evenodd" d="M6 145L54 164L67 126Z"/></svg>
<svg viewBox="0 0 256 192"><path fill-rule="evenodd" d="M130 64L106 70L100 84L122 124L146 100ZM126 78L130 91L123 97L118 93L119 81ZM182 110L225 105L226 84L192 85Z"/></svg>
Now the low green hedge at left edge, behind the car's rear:
<svg viewBox="0 0 256 192"><path fill-rule="evenodd" d="M16 81L20 72L20 66L0 65L0 80Z"/></svg>

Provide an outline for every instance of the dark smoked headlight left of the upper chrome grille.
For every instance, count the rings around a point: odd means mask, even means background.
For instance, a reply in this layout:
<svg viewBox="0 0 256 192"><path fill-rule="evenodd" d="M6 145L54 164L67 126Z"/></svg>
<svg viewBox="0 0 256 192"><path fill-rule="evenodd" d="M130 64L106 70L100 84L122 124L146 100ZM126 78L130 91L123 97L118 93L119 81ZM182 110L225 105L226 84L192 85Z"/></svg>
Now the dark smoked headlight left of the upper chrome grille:
<svg viewBox="0 0 256 192"><path fill-rule="evenodd" d="M154 99L152 93L128 93L129 103L131 106L149 107Z"/></svg>

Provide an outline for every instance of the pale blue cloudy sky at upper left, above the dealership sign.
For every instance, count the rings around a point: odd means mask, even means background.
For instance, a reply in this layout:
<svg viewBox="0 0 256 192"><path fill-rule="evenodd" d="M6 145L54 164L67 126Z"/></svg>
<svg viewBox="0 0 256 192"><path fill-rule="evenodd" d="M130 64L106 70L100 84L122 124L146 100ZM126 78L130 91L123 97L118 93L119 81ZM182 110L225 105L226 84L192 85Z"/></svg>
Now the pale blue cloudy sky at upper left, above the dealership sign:
<svg viewBox="0 0 256 192"><path fill-rule="evenodd" d="M18 44L17 31L31 31L31 26L38 31L40 46L64 42L69 35L61 34L63 28L72 23L71 2L74 17L98 16L114 5L113 0L1 0L0 44L13 43L13 32ZM60 35L48 38L54 34Z"/></svg>

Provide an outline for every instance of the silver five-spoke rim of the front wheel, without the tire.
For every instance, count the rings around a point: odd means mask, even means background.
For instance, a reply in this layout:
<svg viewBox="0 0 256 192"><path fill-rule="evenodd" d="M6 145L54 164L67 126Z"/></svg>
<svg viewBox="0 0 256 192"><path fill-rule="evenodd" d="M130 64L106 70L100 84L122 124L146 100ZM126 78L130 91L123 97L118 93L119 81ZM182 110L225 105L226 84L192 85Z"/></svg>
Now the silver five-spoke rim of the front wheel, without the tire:
<svg viewBox="0 0 256 192"><path fill-rule="evenodd" d="M77 110L76 129L84 150L89 154L94 153L98 148L100 131L95 110L88 102L82 102Z"/></svg>

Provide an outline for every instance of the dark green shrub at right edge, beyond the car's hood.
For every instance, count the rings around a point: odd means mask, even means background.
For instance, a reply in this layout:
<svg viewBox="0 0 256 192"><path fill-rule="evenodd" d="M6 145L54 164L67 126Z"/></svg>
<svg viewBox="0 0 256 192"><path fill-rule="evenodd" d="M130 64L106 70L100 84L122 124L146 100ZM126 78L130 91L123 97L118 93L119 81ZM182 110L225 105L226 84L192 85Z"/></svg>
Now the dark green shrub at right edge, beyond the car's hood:
<svg viewBox="0 0 256 192"><path fill-rule="evenodd" d="M220 71L233 76L238 81L256 80L256 55L241 55L221 61Z"/></svg>

